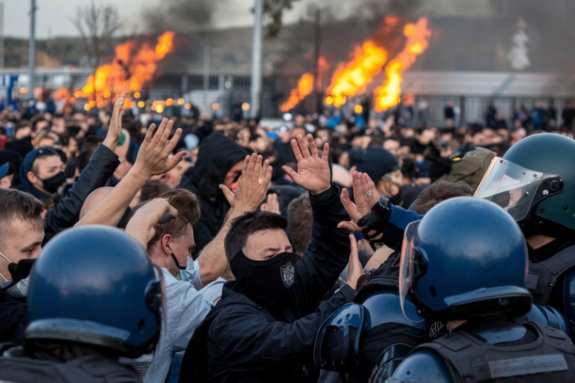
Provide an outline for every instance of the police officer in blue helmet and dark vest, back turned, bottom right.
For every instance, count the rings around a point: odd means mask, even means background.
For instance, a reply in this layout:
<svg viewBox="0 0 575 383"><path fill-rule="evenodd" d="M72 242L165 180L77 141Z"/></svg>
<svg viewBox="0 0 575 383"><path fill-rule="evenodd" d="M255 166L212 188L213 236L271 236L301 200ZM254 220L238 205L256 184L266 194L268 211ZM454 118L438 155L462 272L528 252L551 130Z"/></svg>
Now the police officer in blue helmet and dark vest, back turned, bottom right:
<svg viewBox="0 0 575 383"><path fill-rule="evenodd" d="M442 202L405 229L401 251L402 304L409 297L450 334L415 347L388 382L575 380L565 333L512 320L531 309L528 254L501 207L470 197Z"/></svg>

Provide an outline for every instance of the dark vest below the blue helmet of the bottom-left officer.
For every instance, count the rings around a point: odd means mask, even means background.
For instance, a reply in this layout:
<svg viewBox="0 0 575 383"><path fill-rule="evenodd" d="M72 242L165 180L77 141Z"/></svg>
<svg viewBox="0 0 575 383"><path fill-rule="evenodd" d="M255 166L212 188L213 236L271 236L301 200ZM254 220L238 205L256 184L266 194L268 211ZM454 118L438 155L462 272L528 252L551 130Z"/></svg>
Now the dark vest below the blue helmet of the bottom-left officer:
<svg viewBox="0 0 575 383"><path fill-rule="evenodd" d="M2 356L0 380L14 383L141 383L133 370L99 355L87 355L70 362Z"/></svg>

